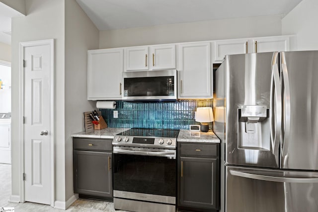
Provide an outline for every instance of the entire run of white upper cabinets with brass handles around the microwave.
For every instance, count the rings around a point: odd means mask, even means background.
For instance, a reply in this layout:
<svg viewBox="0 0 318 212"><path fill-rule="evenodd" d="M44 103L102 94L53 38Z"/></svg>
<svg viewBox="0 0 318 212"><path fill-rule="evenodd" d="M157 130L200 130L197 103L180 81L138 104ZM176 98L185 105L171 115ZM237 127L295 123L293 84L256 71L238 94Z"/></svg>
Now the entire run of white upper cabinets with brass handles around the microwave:
<svg viewBox="0 0 318 212"><path fill-rule="evenodd" d="M178 98L213 98L212 64L225 55L290 50L293 35L90 50L87 99L121 99L123 71L168 69L178 70Z"/></svg>

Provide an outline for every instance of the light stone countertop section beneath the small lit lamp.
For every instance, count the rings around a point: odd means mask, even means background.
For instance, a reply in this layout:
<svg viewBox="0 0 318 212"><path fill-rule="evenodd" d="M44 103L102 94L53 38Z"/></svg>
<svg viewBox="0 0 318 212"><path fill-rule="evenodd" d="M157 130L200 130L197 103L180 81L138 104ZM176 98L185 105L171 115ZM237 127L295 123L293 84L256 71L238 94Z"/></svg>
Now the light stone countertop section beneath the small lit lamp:
<svg viewBox="0 0 318 212"><path fill-rule="evenodd" d="M206 142L220 143L220 139L212 132L180 130L177 142Z"/></svg>

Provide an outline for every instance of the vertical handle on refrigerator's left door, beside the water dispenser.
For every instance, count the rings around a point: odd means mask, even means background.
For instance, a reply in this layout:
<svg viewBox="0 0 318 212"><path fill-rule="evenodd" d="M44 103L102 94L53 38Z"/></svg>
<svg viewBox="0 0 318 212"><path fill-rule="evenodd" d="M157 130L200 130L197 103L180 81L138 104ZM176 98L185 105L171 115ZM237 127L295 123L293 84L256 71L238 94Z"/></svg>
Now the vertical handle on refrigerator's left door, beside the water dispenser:
<svg viewBox="0 0 318 212"><path fill-rule="evenodd" d="M281 136L282 125L282 98L281 98L281 86L279 79L279 69L276 63L278 59L278 52L275 52L272 59L272 80L270 87L270 137L272 141L272 152L278 154L279 139ZM273 98L275 96L275 99ZM275 108L275 112L274 112ZM275 115L276 114L276 115ZM276 154L275 154L276 155ZM277 157L278 160L278 157Z"/></svg>

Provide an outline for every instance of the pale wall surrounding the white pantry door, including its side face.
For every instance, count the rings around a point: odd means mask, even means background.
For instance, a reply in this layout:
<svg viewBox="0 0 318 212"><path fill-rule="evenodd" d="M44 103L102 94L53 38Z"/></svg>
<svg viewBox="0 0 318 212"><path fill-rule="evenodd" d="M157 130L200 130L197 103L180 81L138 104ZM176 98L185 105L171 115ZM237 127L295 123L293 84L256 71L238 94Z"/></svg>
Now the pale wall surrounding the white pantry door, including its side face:
<svg viewBox="0 0 318 212"><path fill-rule="evenodd" d="M55 200L66 204L73 195L71 134L83 131L87 101L87 50L98 49L99 31L76 0L27 0L25 17L12 19L12 74L19 75L19 42L55 39ZM12 80L12 195L19 195L18 87Z"/></svg>

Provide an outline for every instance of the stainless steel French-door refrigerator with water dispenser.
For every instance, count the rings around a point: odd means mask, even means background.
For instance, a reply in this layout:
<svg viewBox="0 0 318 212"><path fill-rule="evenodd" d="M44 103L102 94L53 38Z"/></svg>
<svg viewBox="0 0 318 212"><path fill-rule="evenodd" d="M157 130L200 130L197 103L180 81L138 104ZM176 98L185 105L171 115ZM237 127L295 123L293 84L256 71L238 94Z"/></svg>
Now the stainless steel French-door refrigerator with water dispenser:
<svg viewBox="0 0 318 212"><path fill-rule="evenodd" d="M318 212L318 51L226 56L214 132L226 212Z"/></svg>

